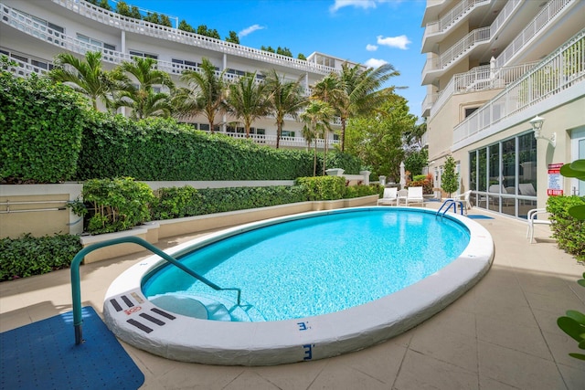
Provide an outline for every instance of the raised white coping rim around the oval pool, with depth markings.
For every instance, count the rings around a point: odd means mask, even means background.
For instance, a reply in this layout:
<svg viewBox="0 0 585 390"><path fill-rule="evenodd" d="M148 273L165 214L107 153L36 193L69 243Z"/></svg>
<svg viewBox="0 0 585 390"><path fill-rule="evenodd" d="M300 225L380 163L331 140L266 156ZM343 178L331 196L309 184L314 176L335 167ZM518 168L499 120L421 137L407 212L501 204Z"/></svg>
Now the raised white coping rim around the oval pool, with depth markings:
<svg viewBox="0 0 585 390"><path fill-rule="evenodd" d="M271 218L224 229L165 252L180 256L187 248L191 250L218 238L274 222L380 207L353 207ZM436 215L435 210L421 207L394 208ZM104 299L104 319L124 342L185 362L288 364L361 350L387 341L430 318L463 295L490 268L494 242L489 232L467 217L453 214L444 217L458 220L469 229L470 242L459 258L403 290L345 311L267 322L207 321L170 313L157 308L141 290L144 276L165 263L164 259L154 255L133 265L112 282Z"/></svg>

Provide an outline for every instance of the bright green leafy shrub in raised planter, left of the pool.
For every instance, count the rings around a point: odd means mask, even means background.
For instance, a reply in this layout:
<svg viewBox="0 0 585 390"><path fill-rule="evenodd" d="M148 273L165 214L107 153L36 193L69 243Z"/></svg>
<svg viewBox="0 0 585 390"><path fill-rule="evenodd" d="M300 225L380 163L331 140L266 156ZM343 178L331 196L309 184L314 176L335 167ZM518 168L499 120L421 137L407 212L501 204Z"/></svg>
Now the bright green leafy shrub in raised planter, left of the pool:
<svg viewBox="0 0 585 390"><path fill-rule="evenodd" d="M88 180L81 196L88 206L87 231L91 234L127 230L148 221L148 205L154 200L148 184L131 177Z"/></svg>

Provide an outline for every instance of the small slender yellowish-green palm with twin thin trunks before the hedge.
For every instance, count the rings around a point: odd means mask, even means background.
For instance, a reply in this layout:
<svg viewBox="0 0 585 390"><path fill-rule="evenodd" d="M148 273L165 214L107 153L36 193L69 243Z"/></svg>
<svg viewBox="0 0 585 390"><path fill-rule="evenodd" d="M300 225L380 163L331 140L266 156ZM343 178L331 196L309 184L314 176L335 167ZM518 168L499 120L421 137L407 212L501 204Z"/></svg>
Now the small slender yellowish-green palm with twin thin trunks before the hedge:
<svg viewBox="0 0 585 390"><path fill-rule="evenodd" d="M323 136L325 142L323 158L323 174L326 169L327 156L327 132L331 130L329 121L333 118L335 110L323 100L310 100L305 111L300 115L303 121L303 136L310 145L314 142L313 175L317 174L317 139Z"/></svg>

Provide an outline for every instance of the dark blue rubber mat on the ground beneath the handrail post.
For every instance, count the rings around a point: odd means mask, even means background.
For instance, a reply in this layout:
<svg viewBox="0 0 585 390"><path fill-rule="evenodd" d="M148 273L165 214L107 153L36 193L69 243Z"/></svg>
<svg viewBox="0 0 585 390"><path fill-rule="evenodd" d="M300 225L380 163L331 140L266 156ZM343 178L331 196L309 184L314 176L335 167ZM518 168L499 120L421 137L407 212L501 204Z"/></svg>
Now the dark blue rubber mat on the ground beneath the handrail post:
<svg viewBox="0 0 585 390"><path fill-rule="evenodd" d="M137 389L144 374L91 307L75 345L73 312L0 333L2 389Z"/></svg>

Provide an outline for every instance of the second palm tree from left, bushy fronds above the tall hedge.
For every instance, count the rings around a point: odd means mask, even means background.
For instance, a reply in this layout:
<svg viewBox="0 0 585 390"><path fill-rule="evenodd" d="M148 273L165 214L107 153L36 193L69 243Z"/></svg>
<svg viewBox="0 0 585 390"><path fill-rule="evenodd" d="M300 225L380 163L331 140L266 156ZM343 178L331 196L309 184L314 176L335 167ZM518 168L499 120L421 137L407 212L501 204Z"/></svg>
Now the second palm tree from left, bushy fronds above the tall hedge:
<svg viewBox="0 0 585 390"><path fill-rule="evenodd" d="M133 58L133 62L124 61L115 69L117 73L129 73L132 79L125 76L114 107L131 108L133 119L144 119L151 116L169 117L173 111L171 96L154 90L156 86L175 89L171 77L163 70L156 69L154 58Z"/></svg>

